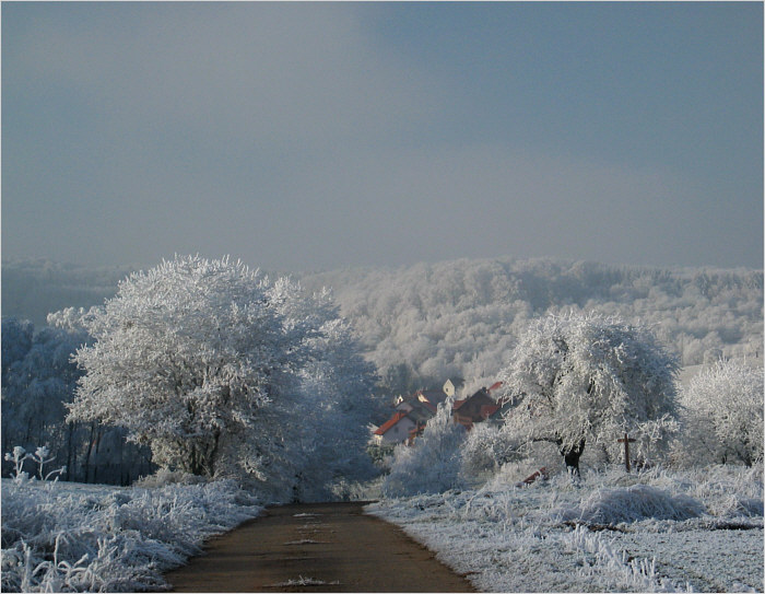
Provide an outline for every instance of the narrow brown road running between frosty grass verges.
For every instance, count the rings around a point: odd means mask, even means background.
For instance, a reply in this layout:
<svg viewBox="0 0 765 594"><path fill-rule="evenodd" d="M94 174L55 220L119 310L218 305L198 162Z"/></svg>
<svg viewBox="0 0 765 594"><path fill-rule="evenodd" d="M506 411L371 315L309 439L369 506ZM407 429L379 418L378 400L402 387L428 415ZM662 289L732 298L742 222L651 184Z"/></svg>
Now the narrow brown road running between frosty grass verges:
<svg viewBox="0 0 765 594"><path fill-rule="evenodd" d="M475 592L357 502L269 508L165 579L176 592Z"/></svg>

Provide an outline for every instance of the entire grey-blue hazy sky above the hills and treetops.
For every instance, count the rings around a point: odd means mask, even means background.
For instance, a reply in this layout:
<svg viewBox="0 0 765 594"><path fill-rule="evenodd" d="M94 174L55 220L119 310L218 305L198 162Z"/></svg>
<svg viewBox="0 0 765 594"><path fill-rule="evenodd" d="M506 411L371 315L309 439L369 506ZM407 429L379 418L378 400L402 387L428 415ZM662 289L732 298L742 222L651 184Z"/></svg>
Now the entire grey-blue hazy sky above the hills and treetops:
<svg viewBox="0 0 765 594"><path fill-rule="evenodd" d="M761 2L3 2L2 257L763 267Z"/></svg>

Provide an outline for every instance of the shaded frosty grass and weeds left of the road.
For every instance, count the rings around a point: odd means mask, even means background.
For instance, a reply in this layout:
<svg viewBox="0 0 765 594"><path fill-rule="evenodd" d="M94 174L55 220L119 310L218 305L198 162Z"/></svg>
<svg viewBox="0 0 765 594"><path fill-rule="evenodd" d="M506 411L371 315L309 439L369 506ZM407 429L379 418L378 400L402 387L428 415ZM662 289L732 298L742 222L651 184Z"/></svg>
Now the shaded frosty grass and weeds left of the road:
<svg viewBox="0 0 765 594"><path fill-rule="evenodd" d="M136 592L261 508L229 481L119 488L2 479L3 592Z"/></svg>

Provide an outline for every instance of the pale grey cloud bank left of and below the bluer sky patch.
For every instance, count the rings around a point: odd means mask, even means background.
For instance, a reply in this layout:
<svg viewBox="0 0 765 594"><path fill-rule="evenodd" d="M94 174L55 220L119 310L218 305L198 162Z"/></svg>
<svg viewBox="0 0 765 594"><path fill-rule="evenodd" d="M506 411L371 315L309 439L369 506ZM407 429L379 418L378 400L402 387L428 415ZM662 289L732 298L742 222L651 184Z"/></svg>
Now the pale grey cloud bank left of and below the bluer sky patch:
<svg viewBox="0 0 765 594"><path fill-rule="evenodd" d="M3 252L728 264L737 225L761 252L745 200L670 164L459 133L474 90L372 28L364 4L4 5Z"/></svg>

